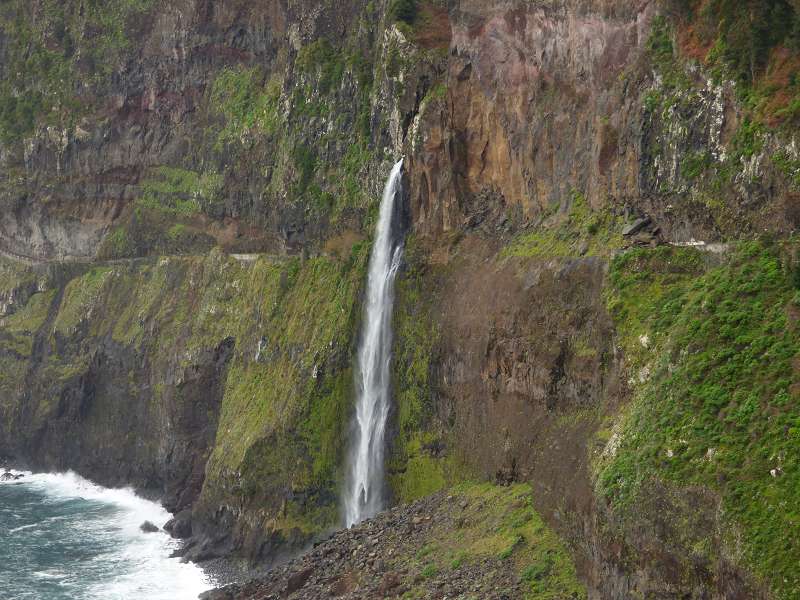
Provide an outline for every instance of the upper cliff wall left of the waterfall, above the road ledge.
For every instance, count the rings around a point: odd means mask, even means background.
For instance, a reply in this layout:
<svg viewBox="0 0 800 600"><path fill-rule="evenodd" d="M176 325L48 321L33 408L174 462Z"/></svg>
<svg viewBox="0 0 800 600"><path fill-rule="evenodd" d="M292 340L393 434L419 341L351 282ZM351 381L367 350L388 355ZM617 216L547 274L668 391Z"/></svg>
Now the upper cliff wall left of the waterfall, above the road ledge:
<svg viewBox="0 0 800 600"><path fill-rule="evenodd" d="M415 93L377 67L399 42L366 2L13 2L3 15L3 249L38 260L314 251L360 232L402 136L398 97Z"/></svg>

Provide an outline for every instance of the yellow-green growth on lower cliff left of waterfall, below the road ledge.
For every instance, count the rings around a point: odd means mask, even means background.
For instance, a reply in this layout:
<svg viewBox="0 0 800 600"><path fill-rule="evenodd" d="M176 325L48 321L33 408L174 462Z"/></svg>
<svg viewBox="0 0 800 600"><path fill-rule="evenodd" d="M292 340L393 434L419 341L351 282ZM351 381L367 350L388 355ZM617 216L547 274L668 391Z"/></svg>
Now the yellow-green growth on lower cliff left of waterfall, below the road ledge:
<svg viewBox="0 0 800 600"><path fill-rule="evenodd" d="M232 340L204 499L233 498L263 516L254 526L287 537L318 533L339 518L368 251L362 243L341 260L265 256L240 263L215 250L94 267L65 284L60 303L54 305L55 290L36 293L4 320L0 410L19 401L37 335L49 344L37 380L53 390L35 407L37 423L52 418L59 390L85 374L101 340L147 362L154 402L166 387L179 397L175 373ZM30 269L19 270L15 281L28 281ZM41 331L51 306L53 321ZM296 499L283 504L287 489Z"/></svg>

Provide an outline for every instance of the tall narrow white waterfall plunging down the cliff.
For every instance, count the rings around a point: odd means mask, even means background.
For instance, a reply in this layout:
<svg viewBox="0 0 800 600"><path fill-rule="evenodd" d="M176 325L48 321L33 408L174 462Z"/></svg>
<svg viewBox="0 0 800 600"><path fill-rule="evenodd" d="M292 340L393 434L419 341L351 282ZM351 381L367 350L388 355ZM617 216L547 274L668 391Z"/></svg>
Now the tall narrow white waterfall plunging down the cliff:
<svg viewBox="0 0 800 600"><path fill-rule="evenodd" d="M374 516L384 502L384 447L390 403L394 280L403 255L396 235L395 199L401 191L402 159L383 190L378 228L369 260L364 322L358 348L356 411L347 457L345 524Z"/></svg>

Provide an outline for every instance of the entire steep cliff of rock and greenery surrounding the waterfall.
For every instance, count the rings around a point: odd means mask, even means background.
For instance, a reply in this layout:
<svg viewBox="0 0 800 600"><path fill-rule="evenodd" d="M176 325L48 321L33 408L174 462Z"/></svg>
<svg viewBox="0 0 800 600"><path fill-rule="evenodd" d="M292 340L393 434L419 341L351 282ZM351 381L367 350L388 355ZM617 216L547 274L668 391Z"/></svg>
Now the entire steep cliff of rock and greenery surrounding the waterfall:
<svg viewBox="0 0 800 600"><path fill-rule="evenodd" d="M404 154L395 498L526 481L593 597L792 597L796 59L712 4L5 3L0 453L195 558L335 527Z"/></svg>

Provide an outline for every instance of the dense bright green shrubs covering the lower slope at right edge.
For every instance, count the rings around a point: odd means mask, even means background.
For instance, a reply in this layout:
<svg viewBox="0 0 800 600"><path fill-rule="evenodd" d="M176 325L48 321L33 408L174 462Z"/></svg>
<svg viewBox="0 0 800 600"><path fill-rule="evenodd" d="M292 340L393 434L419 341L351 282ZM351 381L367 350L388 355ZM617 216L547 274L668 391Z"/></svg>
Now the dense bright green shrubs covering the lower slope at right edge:
<svg viewBox="0 0 800 600"><path fill-rule="evenodd" d="M731 546L787 599L800 593L800 331L788 255L742 242L720 266L689 249L614 260L609 307L636 393L600 469L618 512L656 482L715 490Z"/></svg>

